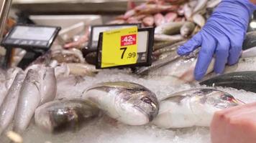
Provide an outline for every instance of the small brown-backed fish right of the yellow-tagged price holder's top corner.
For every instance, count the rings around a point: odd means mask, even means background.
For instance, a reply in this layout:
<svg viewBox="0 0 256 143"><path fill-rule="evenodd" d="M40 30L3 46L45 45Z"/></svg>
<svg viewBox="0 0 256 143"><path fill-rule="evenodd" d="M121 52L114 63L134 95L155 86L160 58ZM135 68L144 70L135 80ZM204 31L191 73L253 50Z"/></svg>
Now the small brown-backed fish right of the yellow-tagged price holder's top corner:
<svg viewBox="0 0 256 143"><path fill-rule="evenodd" d="M184 24L183 21L162 24L155 28L155 34L167 34L167 35L179 34L180 28L181 26L183 26L183 24Z"/></svg>

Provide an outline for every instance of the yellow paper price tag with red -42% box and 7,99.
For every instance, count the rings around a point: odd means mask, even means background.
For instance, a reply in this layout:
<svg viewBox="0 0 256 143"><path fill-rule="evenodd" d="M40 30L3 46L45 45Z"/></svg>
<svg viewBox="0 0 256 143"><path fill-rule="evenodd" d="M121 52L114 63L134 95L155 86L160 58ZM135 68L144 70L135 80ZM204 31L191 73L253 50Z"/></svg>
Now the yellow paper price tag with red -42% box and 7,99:
<svg viewBox="0 0 256 143"><path fill-rule="evenodd" d="M105 31L102 39L101 67L137 63L137 26Z"/></svg>

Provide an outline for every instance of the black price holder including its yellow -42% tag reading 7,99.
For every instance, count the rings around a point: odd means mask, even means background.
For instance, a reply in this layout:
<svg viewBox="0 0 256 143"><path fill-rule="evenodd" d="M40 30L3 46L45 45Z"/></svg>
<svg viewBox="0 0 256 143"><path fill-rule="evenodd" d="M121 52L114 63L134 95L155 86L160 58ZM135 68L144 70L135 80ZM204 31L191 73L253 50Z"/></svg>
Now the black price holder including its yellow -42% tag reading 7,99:
<svg viewBox="0 0 256 143"><path fill-rule="evenodd" d="M102 32L97 50L97 69L150 66L155 29L118 29Z"/></svg>

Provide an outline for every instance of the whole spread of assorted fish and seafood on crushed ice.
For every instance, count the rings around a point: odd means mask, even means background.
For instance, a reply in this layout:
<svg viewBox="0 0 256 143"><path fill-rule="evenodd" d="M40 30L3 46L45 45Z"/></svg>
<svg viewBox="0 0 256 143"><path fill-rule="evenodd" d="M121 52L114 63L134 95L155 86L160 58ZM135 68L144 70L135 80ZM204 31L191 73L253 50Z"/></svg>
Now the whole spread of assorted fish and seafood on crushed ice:
<svg viewBox="0 0 256 143"><path fill-rule="evenodd" d="M237 64L216 75L213 59L201 82L193 78L199 49L176 53L219 2L129 1L109 24L156 26L151 66L96 69L96 52L81 49L86 31L78 41L56 41L24 70L1 69L0 143L211 143L216 112L256 102L256 31Z"/></svg>

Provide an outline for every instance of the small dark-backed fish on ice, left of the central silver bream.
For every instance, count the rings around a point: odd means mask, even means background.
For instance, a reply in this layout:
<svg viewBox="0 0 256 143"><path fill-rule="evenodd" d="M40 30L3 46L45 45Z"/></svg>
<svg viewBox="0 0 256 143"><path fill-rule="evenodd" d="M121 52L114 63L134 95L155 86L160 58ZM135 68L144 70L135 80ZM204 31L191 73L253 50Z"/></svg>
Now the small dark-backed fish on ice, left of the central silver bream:
<svg viewBox="0 0 256 143"><path fill-rule="evenodd" d="M95 104L78 99L48 102L35 111L35 124L46 132L76 131L81 124L99 115Z"/></svg>

